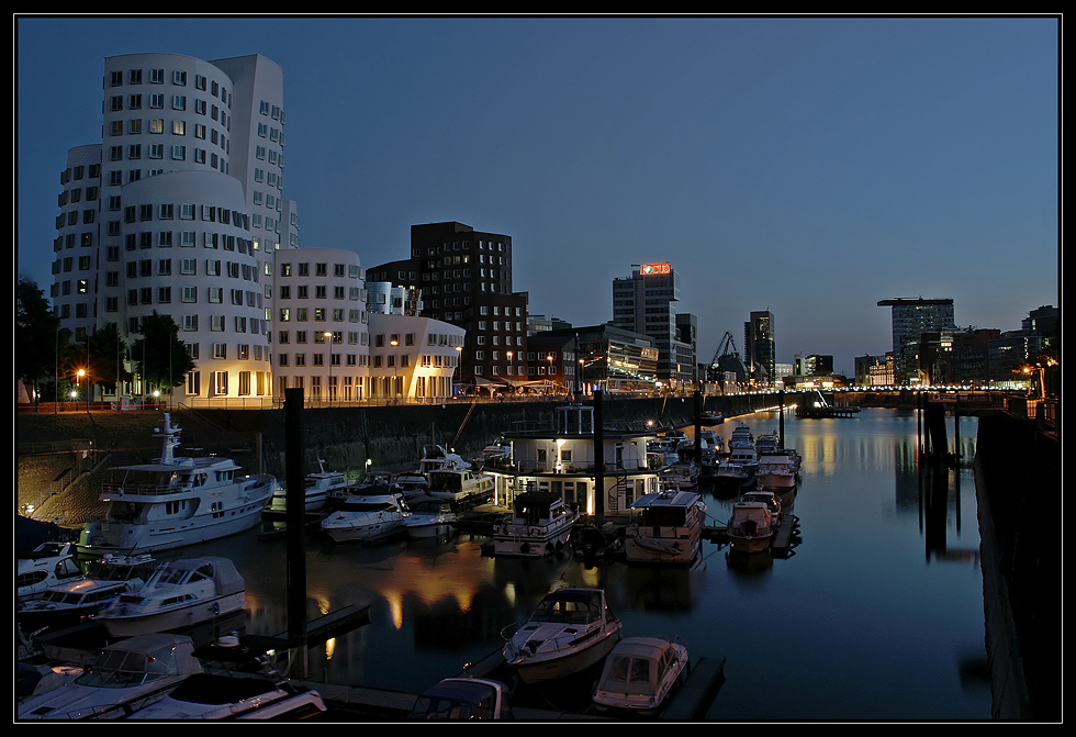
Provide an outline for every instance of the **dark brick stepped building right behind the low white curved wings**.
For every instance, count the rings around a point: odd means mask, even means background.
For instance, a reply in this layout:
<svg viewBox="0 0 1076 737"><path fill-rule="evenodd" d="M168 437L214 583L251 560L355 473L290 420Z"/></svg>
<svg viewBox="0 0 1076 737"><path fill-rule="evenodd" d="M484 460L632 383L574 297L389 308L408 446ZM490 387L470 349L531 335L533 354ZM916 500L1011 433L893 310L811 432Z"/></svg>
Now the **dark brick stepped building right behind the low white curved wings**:
<svg viewBox="0 0 1076 737"><path fill-rule="evenodd" d="M464 328L461 381L529 380L528 294L512 288L512 236L458 222L412 225L411 258L373 266L367 278L416 292L422 316Z"/></svg>

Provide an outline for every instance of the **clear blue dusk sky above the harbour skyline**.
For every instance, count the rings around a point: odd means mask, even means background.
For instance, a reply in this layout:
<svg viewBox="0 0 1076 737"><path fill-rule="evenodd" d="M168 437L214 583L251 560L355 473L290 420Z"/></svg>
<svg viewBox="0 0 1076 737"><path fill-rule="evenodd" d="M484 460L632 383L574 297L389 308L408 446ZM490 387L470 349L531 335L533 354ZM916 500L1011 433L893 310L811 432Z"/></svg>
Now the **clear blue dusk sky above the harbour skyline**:
<svg viewBox="0 0 1076 737"><path fill-rule="evenodd" d="M305 247L407 257L413 224L512 236L531 314L612 319L672 264L705 361L774 314L777 360L892 348L892 298L963 327L1058 304L1053 16L14 16L16 271L46 290L104 58L261 54L284 75Z"/></svg>

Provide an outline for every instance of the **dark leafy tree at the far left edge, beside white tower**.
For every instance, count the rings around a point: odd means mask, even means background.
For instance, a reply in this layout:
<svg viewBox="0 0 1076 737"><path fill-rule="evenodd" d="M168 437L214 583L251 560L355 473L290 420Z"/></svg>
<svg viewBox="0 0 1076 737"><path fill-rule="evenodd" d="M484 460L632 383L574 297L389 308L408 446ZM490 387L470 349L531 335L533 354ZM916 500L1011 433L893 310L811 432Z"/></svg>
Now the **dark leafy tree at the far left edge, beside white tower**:
<svg viewBox="0 0 1076 737"><path fill-rule="evenodd" d="M70 335L69 330L60 330L59 319L36 282L20 277L15 287L15 376L31 386L35 404L42 379L56 372L56 346L66 345Z"/></svg>

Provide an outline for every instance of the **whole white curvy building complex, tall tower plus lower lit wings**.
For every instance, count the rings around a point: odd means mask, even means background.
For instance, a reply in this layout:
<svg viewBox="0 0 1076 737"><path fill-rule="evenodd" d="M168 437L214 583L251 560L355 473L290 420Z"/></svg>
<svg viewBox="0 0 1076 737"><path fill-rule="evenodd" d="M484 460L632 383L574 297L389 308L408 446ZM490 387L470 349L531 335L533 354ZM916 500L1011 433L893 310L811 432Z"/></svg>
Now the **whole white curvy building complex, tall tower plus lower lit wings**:
<svg viewBox="0 0 1076 737"><path fill-rule="evenodd" d="M357 254L301 248L279 66L127 54L104 60L103 90L101 143L71 148L60 175L51 292L75 339L111 323L130 345L169 316L195 367L171 400L190 406L271 405L294 387L329 403L453 395L462 328L408 309L417 287L371 314ZM504 244L480 244L477 263L501 267ZM93 399L147 389L136 376Z"/></svg>

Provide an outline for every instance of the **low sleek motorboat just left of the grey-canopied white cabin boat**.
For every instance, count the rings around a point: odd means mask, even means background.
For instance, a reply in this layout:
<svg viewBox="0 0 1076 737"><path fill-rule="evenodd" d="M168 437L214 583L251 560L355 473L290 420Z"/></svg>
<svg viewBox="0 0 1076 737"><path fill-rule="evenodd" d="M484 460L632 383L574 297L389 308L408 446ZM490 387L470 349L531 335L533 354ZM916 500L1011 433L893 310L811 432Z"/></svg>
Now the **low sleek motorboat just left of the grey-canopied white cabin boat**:
<svg viewBox="0 0 1076 737"><path fill-rule="evenodd" d="M149 554L105 554L90 563L85 578L49 587L41 596L19 603L19 621L29 629L74 626L122 593L149 580L157 563Z"/></svg>

